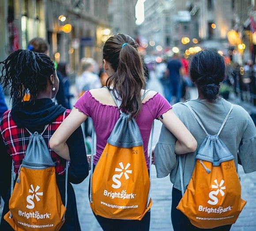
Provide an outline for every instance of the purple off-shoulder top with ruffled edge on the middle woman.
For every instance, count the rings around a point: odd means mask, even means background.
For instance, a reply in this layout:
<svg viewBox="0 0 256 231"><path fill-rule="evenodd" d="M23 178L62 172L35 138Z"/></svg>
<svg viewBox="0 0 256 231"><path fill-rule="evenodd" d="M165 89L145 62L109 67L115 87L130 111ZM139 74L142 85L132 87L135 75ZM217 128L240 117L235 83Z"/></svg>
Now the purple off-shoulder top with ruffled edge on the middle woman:
<svg viewBox="0 0 256 231"><path fill-rule="evenodd" d="M95 99L90 91L85 92L75 103L75 108L92 118L97 142L96 142L96 155L94 158L94 165L97 164L102 151L107 143L107 139L113 130L115 123L119 118L119 110L117 106L111 106L100 103ZM142 104L142 109L136 122L143 139L143 147L147 167L149 167L147 148L151 134L151 127L154 119L160 117L166 111L171 109L172 106L168 101L159 93L156 93L152 98L148 99Z"/></svg>

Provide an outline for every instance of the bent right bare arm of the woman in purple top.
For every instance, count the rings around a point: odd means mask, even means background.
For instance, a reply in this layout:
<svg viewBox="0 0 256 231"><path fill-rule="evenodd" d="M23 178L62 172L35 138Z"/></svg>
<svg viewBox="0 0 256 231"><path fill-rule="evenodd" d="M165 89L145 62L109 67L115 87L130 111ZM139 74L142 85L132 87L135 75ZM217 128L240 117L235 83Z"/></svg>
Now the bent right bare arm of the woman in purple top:
<svg viewBox="0 0 256 231"><path fill-rule="evenodd" d="M188 131L181 120L176 116L172 109L168 110L162 115L162 118L158 118L166 128L173 133L177 138L175 144L176 154L185 154L194 152L197 147L197 142L194 136Z"/></svg>

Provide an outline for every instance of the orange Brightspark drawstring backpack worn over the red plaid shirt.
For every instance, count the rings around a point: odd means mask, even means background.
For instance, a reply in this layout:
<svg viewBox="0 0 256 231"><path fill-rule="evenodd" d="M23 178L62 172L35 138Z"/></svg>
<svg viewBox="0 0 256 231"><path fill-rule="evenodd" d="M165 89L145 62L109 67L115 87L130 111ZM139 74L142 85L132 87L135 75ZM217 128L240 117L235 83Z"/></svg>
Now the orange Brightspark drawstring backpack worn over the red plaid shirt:
<svg viewBox="0 0 256 231"><path fill-rule="evenodd" d="M48 125L45 126L45 129ZM45 132L45 129L43 132ZM65 206L56 184L55 164L42 136L30 131L29 144L14 184L12 163L10 211L4 215L15 231L58 231L67 207L68 161L65 177Z"/></svg>

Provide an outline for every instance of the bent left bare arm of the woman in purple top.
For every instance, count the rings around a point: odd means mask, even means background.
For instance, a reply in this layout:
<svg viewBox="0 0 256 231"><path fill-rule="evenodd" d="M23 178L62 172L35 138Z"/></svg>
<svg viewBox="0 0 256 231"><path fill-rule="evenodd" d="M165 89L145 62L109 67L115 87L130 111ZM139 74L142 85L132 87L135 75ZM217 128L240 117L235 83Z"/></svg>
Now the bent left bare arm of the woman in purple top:
<svg viewBox="0 0 256 231"><path fill-rule="evenodd" d="M53 133L49 141L50 147L60 157L70 160L67 139L87 119L87 115L73 108L71 113Z"/></svg>

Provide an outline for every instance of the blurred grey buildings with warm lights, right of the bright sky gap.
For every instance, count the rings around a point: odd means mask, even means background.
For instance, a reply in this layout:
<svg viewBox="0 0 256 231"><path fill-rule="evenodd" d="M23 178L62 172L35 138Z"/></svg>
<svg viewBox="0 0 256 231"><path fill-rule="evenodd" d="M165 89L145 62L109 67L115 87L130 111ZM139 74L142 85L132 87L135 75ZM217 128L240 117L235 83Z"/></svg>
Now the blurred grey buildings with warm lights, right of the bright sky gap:
<svg viewBox="0 0 256 231"><path fill-rule="evenodd" d="M255 7L256 0L146 0L145 21L139 26L139 34L147 41L150 54L161 53L156 51L159 44L162 53L173 46L181 52L211 48L224 55L231 52L230 58L237 62L250 56L255 60ZM237 33L235 44L230 43L230 30Z"/></svg>

